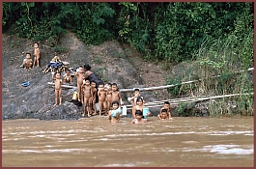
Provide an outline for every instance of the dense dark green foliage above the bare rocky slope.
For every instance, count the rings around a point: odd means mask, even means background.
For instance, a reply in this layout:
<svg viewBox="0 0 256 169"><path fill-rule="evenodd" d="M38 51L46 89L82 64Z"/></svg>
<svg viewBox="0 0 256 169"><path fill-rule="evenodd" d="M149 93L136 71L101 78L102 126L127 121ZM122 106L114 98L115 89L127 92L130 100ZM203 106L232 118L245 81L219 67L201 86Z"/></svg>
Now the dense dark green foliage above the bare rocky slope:
<svg viewBox="0 0 256 169"><path fill-rule="evenodd" d="M206 37L218 39L234 32L240 41L251 40L243 30L253 28L253 3L4 2L2 27L4 33L34 41L58 42L67 30L87 44L118 39L146 59L168 65L196 59ZM248 48L243 49L246 56L251 54Z"/></svg>

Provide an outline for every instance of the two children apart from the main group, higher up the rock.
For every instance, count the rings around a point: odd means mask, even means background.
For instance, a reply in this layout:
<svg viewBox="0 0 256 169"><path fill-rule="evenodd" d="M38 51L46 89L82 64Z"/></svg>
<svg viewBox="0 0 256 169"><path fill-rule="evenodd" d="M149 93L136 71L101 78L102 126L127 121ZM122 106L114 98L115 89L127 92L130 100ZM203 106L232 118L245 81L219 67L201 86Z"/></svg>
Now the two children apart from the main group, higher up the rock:
<svg viewBox="0 0 256 169"><path fill-rule="evenodd" d="M37 67L39 67L40 66L39 61L40 61L39 43L35 42L34 43L34 62L31 58L31 53L26 53L26 58L23 60L20 67L24 69L31 69L31 68L34 68L36 64L37 64Z"/></svg>

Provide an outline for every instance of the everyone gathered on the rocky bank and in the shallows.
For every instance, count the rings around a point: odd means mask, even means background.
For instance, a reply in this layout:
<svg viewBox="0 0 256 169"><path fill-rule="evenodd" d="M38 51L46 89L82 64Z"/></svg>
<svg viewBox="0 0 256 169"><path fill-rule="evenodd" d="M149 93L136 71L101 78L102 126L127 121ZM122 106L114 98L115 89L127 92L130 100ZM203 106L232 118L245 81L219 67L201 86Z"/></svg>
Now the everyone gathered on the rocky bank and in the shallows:
<svg viewBox="0 0 256 169"><path fill-rule="evenodd" d="M40 66L40 49L39 43L34 43L34 62L31 59L31 53L26 53L26 58L23 60L21 67L24 69L34 68ZM56 56L55 56L56 57ZM54 58L55 58L54 57ZM56 58L55 58L56 59ZM57 58L59 59L59 58ZM66 69L66 73L61 75L61 71L52 71L52 80L54 81L55 88L55 104L62 104L62 85L72 83L72 78L77 78L77 97L76 99L81 102L83 106L82 116L90 117L97 114L96 103L99 102L100 115L108 117L109 122L118 123L122 115L121 106L124 105L121 93L118 90L116 83L104 84L103 81L97 76L96 73L91 71L89 65L79 66L74 72ZM131 124L147 123L147 118L151 115L149 108L145 107L145 100L140 96L139 89L133 91L133 97L128 98L132 104L132 117ZM170 103L164 102L160 112L157 115L159 120L168 120L171 118Z"/></svg>

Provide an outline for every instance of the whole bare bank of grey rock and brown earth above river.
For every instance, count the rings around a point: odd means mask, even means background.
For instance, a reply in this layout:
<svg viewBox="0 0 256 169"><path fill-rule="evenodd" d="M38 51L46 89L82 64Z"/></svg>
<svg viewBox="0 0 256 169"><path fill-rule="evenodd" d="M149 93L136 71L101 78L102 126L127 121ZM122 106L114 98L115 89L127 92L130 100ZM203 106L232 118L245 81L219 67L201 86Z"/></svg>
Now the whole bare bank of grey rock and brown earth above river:
<svg viewBox="0 0 256 169"><path fill-rule="evenodd" d="M81 118L81 107L71 103L72 89L63 90L62 106L53 106L54 89L47 85L51 82L51 74L43 73L42 68L55 55L60 56L62 61L70 63L70 67L89 64L100 78L105 82L117 83L120 89L133 89L156 87L166 85L170 79L183 77L183 71L195 67L194 63L181 63L179 65L169 65L162 61L154 62L145 60L128 44L119 42L104 42L100 45L88 46L79 41L74 34L69 33L60 40L58 46L50 47L49 42L40 42L41 67L31 70L20 68L20 64L26 52L33 53L32 41L18 39L14 36L3 35L2 65L3 65L3 85L2 85L2 119L27 119L35 118L41 120L53 120L54 117L66 120L77 120ZM28 87L21 84L30 81ZM76 84L76 79L73 85ZM172 84L176 84L173 81ZM188 85L187 85L188 86ZM146 102L161 101L165 99L179 99L200 97L199 90L189 91L191 85L179 86L180 96L168 92L170 89L155 91L143 91L141 95ZM177 90L176 88L173 88ZM185 91L185 92L184 92ZM127 99L132 96L132 92L122 93L125 104L129 104ZM209 116L209 105L211 101L196 101L188 104L171 104L172 116ZM229 103L229 104L228 104ZM242 114L236 103L225 102L226 110L233 107L236 114ZM151 107L153 116L158 114L160 107ZM219 111L220 110L216 110ZM61 116L58 116L61 114ZM130 112L128 111L128 114ZM57 119L58 119L57 118Z"/></svg>

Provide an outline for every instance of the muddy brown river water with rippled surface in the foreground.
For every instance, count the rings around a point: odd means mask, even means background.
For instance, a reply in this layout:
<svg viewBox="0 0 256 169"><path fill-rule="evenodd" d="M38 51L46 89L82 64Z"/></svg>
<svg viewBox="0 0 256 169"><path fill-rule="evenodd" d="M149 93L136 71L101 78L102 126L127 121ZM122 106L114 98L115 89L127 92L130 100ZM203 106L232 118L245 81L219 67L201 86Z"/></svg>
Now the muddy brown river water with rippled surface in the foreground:
<svg viewBox="0 0 256 169"><path fill-rule="evenodd" d="M252 167L253 117L2 121L2 166Z"/></svg>

